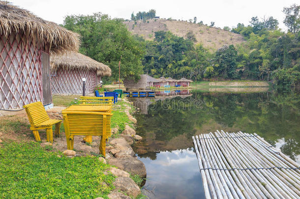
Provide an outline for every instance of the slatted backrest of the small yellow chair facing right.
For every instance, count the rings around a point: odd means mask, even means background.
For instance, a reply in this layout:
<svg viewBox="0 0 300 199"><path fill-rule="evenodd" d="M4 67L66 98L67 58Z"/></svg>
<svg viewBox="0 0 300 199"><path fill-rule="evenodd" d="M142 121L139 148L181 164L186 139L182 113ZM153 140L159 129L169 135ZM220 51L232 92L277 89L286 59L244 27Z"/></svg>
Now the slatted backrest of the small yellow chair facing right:
<svg viewBox="0 0 300 199"><path fill-rule="evenodd" d="M42 102L34 102L24 106L31 126L37 126L38 124L50 119Z"/></svg>

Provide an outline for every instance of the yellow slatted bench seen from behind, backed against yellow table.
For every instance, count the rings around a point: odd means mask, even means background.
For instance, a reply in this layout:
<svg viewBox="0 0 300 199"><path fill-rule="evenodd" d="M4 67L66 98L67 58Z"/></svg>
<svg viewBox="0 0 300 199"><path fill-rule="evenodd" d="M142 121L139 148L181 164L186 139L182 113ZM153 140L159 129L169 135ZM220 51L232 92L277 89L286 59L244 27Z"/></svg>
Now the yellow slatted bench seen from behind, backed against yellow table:
<svg viewBox="0 0 300 199"><path fill-rule="evenodd" d="M99 150L105 156L105 142L111 136L112 114L93 111L72 111L73 106L62 111L67 148L73 150L74 136L101 136Z"/></svg>

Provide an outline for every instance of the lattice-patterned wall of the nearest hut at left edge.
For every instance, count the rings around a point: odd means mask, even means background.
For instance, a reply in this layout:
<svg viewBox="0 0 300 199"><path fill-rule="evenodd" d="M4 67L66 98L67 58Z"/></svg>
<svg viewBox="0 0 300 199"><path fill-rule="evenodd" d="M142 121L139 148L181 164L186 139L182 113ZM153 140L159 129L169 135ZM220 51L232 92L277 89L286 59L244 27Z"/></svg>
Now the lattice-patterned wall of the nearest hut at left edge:
<svg viewBox="0 0 300 199"><path fill-rule="evenodd" d="M0 109L42 101L41 52L24 34L0 35Z"/></svg>

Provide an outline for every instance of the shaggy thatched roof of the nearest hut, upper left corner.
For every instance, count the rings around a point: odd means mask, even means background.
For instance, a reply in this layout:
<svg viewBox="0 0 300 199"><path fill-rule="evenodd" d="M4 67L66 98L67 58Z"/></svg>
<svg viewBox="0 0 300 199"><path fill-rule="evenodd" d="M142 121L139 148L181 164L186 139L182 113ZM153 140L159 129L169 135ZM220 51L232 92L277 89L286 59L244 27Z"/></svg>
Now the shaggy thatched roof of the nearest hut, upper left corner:
<svg viewBox="0 0 300 199"><path fill-rule="evenodd" d="M13 32L25 33L34 44L52 51L78 51L79 34L43 20L26 9L0 1L0 35L8 37Z"/></svg>

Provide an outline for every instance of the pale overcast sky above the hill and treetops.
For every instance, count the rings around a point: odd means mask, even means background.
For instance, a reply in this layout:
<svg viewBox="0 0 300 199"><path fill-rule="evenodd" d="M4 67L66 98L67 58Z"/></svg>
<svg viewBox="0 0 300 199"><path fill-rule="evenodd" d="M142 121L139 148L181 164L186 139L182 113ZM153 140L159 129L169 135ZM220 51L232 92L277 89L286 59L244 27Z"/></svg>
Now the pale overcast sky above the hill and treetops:
<svg viewBox="0 0 300 199"><path fill-rule="evenodd" d="M216 27L236 27L238 23L249 24L251 17L273 16L279 28L286 30L283 7L298 0L9 0L35 15L62 24L66 15L102 12L112 18L130 19L131 13L156 10L161 18L189 20L197 17L198 22Z"/></svg>

